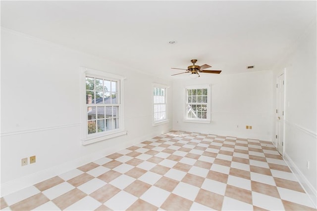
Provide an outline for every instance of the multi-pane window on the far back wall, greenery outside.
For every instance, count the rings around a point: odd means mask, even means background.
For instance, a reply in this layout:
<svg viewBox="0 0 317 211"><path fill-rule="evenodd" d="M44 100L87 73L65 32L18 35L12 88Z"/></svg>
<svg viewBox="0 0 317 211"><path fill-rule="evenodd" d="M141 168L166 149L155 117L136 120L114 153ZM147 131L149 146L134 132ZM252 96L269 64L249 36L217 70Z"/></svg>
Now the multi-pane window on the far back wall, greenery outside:
<svg viewBox="0 0 317 211"><path fill-rule="evenodd" d="M185 88L185 122L210 123L210 85Z"/></svg>

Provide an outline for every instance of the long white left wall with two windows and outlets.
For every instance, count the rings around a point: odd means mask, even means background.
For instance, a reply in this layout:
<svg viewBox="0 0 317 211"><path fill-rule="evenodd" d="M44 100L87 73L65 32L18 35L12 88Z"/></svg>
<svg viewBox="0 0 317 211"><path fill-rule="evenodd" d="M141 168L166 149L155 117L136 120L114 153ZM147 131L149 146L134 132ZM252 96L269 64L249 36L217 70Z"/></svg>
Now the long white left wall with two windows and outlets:
<svg viewBox="0 0 317 211"><path fill-rule="evenodd" d="M126 77L128 135L81 144L81 67ZM171 122L152 127L152 83L171 86L106 59L1 29L1 195L170 130ZM36 163L21 167L21 159L33 155Z"/></svg>

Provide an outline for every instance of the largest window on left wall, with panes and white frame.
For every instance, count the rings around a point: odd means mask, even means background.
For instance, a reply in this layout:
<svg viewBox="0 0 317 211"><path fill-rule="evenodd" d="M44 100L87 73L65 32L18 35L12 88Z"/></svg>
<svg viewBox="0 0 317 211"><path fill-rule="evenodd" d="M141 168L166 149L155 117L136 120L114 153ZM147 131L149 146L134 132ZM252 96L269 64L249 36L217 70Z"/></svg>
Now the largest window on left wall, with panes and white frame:
<svg viewBox="0 0 317 211"><path fill-rule="evenodd" d="M83 144L126 134L123 130L121 88L123 78L117 75L85 69L85 106L83 109Z"/></svg>

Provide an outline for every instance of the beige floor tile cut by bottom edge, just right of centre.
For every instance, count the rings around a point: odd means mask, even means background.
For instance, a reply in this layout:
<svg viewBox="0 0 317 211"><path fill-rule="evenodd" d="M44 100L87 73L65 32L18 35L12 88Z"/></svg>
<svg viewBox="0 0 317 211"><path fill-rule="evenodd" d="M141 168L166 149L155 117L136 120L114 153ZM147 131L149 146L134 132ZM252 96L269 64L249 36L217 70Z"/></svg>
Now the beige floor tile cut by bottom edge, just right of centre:
<svg viewBox="0 0 317 211"><path fill-rule="evenodd" d="M170 194L161 208L166 211L188 211L193 202L175 194Z"/></svg>

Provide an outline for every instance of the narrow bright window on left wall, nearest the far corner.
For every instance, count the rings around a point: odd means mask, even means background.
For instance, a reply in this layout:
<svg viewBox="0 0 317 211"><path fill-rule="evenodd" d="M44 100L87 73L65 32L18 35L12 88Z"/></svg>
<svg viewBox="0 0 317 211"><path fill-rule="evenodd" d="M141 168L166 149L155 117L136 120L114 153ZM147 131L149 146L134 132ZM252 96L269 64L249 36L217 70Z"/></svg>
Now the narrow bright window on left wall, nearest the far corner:
<svg viewBox="0 0 317 211"><path fill-rule="evenodd" d="M153 84L153 125L168 122L166 116L166 88L161 84Z"/></svg>

